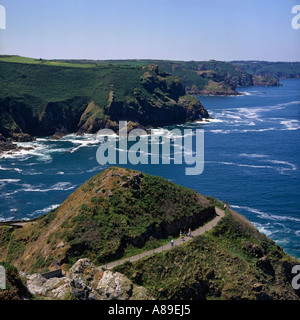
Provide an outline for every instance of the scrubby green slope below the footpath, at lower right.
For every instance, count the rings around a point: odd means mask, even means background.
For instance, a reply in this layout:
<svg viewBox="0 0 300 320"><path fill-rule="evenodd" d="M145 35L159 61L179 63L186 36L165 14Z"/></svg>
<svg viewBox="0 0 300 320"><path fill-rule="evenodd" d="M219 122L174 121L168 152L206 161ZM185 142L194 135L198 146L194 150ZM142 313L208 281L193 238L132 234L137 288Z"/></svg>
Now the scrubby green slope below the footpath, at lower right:
<svg viewBox="0 0 300 320"><path fill-rule="evenodd" d="M291 286L299 261L239 214L181 247L115 268L159 300L298 300Z"/></svg>

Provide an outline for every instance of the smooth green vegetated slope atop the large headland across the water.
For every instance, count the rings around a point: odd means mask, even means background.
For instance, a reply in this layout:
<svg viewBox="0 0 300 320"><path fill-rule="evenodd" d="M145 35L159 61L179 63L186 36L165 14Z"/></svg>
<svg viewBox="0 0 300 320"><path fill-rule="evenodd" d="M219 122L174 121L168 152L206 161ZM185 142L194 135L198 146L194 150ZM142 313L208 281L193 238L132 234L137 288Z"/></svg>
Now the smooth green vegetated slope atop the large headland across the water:
<svg viewBox="0 0 300 320"><path fill-rule="evenodd" d="M87 97L101 107L106 106L110 90L117 92L117 99L123 99L143 74L141 68L122 66L78 68L70 65L66 68L59 64L53 67L40 63L2 62L0 68L0 98L28 97L31 99L28 102L33 104L32 96L45 102ZM39 101L36 102L38 105Z"/></svg>

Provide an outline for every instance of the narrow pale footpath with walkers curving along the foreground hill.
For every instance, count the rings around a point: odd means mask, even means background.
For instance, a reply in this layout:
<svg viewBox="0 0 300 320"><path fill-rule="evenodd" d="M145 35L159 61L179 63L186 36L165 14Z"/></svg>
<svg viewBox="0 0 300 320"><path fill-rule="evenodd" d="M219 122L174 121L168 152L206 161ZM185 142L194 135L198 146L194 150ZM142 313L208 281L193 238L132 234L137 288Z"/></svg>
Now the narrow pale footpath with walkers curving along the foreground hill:
<svg viewBox="0 0 300 320"><path fill-rule="evenodd" d="M175 239L174 240L174 245L173 247L171 246L171 243L168 243L168 244L164 244L163 246L161 247L158 247L156 249L152 249L152 250L149 250L149 251L145 251L145 252L142 252L140 254L137 254L135 256L132 256L132 257L128 257L128 258L124 258L124 259L121 259L121 260L117 260L117 261L113 261L113 262L109 262L107 264L104 264L98 268L105 268L105 269L112 269L126 261L130 261L130 262L133 262L133 261L137 261L139 259L142 259L146 256L149 256L151 254L154 254L154 253L158 253L158 252L162 252L162 251L166 251L166 250L170 250L171 248L174 248L175 246L181 246L185 243L187 243L188 241L191 241L193 239L194 236L198 236L200 234L203 234L204 232L208 231L208 230L211 230L214 226L217 225L217 223L224 217L225 215L225 212L217 207L215 207L215 210L216 210L216 214L217 216L209 221L208 223L206 223L204 226L198 228L198 229L195 229L194 231L192 231L192 237L183 237L183 239Z"/></svg>

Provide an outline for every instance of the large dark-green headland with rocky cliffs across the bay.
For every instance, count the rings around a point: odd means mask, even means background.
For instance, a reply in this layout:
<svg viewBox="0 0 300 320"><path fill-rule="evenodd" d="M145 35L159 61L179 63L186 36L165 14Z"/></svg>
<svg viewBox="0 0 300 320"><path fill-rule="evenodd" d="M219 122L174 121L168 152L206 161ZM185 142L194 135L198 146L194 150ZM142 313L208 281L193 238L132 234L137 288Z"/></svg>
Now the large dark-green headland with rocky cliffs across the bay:
<svg viewBox="0 0 300 320"><path fill-rule="evenodd" d="M59 67L0 62L0 134L96 133L118 121L160 126L209 117L157 66ZM20 138L21 139L21 138Z"/></svg>

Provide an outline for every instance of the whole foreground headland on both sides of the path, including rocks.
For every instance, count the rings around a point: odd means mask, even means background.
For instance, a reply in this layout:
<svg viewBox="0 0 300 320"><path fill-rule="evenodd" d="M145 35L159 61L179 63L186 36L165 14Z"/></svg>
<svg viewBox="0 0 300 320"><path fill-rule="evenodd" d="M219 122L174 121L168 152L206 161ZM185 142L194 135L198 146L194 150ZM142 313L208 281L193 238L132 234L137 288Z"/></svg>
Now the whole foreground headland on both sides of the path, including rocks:
<svg viewBox="0 0 300 320"><path fill-rule="evenodd" d="M186 244L125 262L115 267L119 273L95 267L169 242L186 226L203 225L214 218L215 206L223 208L163 178L111 167L56 210L21 228L1 226L0 261L27 273L49 270L53 263L69 270L69 276L51 281L24 274L31 292L47 299L103 299L107 292L113 298L122 274L129 279L124 278L126 299L133 288L141 299L299 299L291 270L300 262L230 208L214 228ZM26 288L15 267L8 268L13 276L7 294L18 298Z"/></svg>

